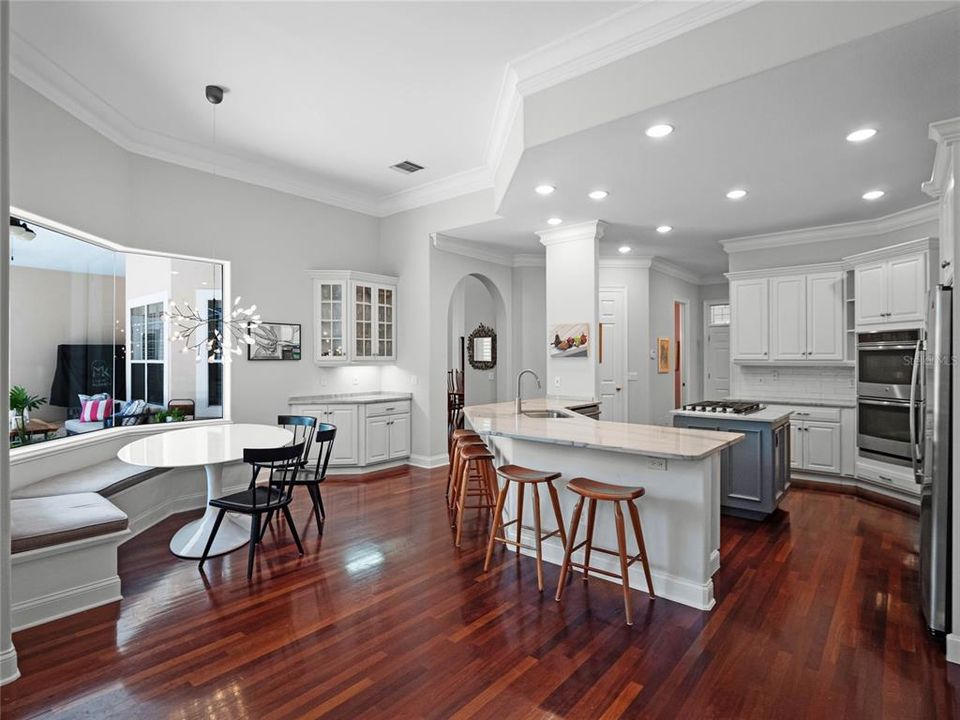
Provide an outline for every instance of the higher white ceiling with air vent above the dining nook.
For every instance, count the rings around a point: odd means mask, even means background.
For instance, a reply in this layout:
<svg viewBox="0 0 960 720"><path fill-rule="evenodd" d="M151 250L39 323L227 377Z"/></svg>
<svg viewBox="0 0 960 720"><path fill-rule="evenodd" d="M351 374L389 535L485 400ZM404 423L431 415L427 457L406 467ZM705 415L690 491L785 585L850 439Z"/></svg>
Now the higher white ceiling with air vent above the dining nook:
<svg viewBox="0 0 960 720"><path fill-rule="evenodd" d="M507 64L613 2L14 2L15 74L59 84L128 144L329 187L340 204L490 184ZM412 160L404 176L388 166Z"/></svg>

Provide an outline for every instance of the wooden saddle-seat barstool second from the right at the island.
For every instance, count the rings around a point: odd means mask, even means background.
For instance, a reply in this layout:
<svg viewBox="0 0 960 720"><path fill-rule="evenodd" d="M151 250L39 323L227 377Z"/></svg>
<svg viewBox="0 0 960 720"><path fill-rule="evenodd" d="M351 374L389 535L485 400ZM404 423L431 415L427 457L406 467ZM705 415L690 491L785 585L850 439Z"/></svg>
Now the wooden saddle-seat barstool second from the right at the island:
<svg viewBox="0 0 960 720"><path fill-rule="evenodd" d="M520 557L520 549L527 547L523 545L523 495L524 488L531 485L533 491L533 538L534 550L537 554L537 588L543 592L543 541L547 538L560 536L560 542L564 547L567 546L567 536L563 531L563 514L560 512L560 498L557 497L557 489L553 486L553 481L560 477L560 473L543 472L541 470L531 470L530 468L520 467L519 465L503 465L497 468L497 474L504 479L503 487L497 495L497 507L493 511L493 527L490 529L490 540L487 543L487 559L483 563L483 571L490 569L490 560L493 558L493 547L500 542L504 545L512 545L517 548L517 558ZM517 484L517 517L509 522L503 522L503 505L507 499L507 492L510 490L510 483ZM546 485L547 492L550 494L550 502L553 505L553 513L557 519L557 529L544 533L540 527L540 486ZM516 540L510 540L506 536L506 528L511 525L517 526ZM527 528L528 530L531 528ZM502 535L498 534L503 532Z"/></svg>

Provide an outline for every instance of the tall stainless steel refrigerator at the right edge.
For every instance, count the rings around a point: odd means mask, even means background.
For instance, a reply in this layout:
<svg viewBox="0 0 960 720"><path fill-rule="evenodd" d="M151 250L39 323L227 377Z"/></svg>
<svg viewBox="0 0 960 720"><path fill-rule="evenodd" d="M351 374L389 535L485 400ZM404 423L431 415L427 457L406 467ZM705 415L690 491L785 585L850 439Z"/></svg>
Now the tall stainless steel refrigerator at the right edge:
<svg viewBox="0 0 960 720"><path fill-rule="evenodd" d="M926 340L915 364L911 402L914 474L920 484L920 592L934 632L950 629L950 472L954 351L953 289L938 285L927 300Z"/></svg>

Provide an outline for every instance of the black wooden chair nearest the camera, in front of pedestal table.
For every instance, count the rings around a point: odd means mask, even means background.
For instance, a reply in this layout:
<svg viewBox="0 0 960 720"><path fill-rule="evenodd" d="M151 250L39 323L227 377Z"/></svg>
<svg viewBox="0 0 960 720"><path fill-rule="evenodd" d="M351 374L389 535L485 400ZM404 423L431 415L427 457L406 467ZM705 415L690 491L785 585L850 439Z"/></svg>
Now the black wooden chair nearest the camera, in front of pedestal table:
<svg viewBox="0 0 960 720"><path fill-rule="evenodd" d="M210 506L219 508L220 512L213 524L213 532L210 533L207 546L203 549L203 557L200 558L201 572L203 571L203 564L207 561L210 548L213 546L213 540L220 530L223 516L228 512L251 516L247 580L253 577L253 557L257 551L257 545L260 544L262 535L260 532L260 517L264 513L273 515L278 510L283 513L283 516L287 519L287 525L290 526L290 532L293 534L293 540L297 543L297 551L300 555L303 555L303 545L300 544L300 536L297 535L297 528L290 516L293 486L296 483L302 460L303 443L280 448L247 448L243 451L243 461L250 465L253 471L250 486L241 492L210 501ZM257 477L261 470L266 470L270 474L270 482L267 485L257 485Z"/></svg>

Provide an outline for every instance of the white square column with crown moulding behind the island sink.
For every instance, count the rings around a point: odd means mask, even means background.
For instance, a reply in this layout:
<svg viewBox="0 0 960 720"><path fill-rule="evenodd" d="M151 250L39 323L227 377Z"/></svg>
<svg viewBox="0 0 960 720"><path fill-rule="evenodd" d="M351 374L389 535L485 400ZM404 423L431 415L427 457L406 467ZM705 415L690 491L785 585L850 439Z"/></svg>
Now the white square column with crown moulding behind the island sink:
<svg viewBox="0 0 960 720"><path fill-rule="evenodd" d="M599 244L601 220L537 233L546 248L548 395L598 399L597 322L600 309ZM584 357L552 357L546 348L558 325L586 323L588 346Z"/></svg>

